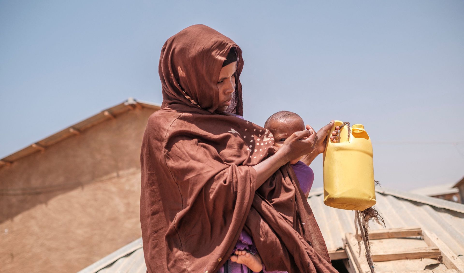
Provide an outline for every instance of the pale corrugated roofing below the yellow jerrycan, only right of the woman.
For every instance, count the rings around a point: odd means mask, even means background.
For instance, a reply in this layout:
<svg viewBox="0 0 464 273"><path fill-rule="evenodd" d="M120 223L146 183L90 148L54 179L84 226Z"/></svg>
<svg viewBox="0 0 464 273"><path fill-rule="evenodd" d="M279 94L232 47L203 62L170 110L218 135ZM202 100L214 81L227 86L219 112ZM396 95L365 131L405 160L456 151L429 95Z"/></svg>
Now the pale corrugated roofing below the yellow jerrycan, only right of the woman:
<svg viewBox="0 0 464 273"><path fill-rule="evenodd" d="M338 210L323 204L323 191L316 189L308 198L327 248L343 248L342 237L354 233L354 211ZM375 208L388 229L419 227L438 235L457 255L464 255L464 205L399 190L376 188ZM370 222L371 230L382 229ZM461 256L464 259L463 256Z"/></svg>

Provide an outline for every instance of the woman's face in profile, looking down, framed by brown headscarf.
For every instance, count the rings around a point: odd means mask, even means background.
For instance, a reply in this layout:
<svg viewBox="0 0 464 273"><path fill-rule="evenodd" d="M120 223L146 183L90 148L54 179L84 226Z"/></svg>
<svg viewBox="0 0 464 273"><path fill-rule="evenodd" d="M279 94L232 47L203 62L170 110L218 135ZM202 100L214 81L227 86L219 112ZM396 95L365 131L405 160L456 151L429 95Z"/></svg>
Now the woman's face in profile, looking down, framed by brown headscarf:
<svg viewBox="0 0 464 273"><path fill-rule="evenodd" d="M229 63L221 69L218 79L219 107L216 112L224 112L232 102L235 91L235 71L237 62Z"/></svg>

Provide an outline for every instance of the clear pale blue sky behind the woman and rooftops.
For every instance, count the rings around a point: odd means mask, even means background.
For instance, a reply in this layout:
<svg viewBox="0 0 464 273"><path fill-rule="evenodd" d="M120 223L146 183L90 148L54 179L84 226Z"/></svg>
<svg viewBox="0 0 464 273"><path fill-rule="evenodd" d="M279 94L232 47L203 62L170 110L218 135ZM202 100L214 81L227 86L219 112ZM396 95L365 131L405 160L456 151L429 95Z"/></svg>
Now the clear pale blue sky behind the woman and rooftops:
<svg viewBox="0 0 464 273"><path fill-rule="evenodd" d="M161 103L161 46L205 24L243 50L247 120L362 123L385 187L461 179L464 2L289 2L0 1L0 158L128 97Z"/></svg>

